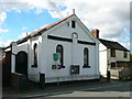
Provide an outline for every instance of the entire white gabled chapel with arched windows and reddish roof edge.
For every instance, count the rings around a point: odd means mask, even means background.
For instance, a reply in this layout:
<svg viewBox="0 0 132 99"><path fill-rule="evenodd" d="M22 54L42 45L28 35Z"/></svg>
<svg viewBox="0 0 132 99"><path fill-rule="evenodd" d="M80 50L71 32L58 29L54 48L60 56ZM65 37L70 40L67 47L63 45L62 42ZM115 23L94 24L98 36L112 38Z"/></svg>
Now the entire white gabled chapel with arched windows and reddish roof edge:
<svg viewBox="0 0 132 99"><path fill-rule="evenodd" d="M99 41L76 14L11 43L11 73L45 82L99 79Z"/></svg>

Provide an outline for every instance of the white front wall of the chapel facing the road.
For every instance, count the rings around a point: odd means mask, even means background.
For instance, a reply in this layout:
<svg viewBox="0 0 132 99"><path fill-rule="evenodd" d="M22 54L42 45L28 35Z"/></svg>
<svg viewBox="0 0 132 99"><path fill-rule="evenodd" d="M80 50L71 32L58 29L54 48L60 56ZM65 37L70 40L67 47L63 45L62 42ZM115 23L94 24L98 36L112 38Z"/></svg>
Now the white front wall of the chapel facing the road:
<svg viewBox="0 0 132 99"><path fill-rule="evenodd" d="M85 44L76 44L77 50L76 56L72 58L73 53L73 43L69 42L62 42L62 41L54 41L54 40L48 40L46 36L47 35L54 35L54 36L59 36L59 37L66 37L66 38L72 38L72 33L76 32L78 34L78 40L81 41L87 41L87 42L95 42L92 38L88 36L86 32L82 31L81 28L79 28L78 24L76 24L77 29L72 29L67 24L64 25L58 25L57 30L50 30L48 32L43 34L43 58L44 61L42 62L42 72L45 74L46 78L52 78L52 77L68 77L70 75L70 65L79 65L80 66L80 73L79 76L89 76L86 79L95 79L99 78L99 46L95 45L85 45ZM65 68L62 69L52 69L52 65L55 64L53 61L53 53L56 52L56 46L61 44L63 45L64 48L64 66ZM84 48L88 47L89 50L89 66L90 68L82 68L84 65ZM95 76L98 75L98 76ZM75 75L77 76L77 75ZM66 80L66 79L65 79ZM69 79L70 80L70 79ZM52 80L46 80L52 81ZM54 80L53 80L54 81Z"/></svg>

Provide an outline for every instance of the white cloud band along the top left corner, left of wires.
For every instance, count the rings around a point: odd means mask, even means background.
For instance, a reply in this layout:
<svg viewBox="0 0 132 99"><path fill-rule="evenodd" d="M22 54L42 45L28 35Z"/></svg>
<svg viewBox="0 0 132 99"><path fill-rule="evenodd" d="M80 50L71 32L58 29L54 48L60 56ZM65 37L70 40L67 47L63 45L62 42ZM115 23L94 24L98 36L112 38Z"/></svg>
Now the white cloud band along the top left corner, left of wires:
<svg viewBox="0 0 132 99"><path fill-rule="evenodd" d="M36 11L41 12L41 10L48 8L48 3L46 0L2 0L1 7L3 11L16 11L21 13L21 10L30 11L32 9L36 9Z"/></svg>

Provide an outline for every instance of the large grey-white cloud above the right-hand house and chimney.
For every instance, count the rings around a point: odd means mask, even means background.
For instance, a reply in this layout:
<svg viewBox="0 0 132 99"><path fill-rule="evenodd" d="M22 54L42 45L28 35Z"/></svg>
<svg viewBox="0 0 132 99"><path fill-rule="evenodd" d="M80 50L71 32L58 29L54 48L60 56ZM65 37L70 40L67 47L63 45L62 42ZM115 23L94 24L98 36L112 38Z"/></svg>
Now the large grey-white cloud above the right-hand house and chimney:
<svg viewBox="0 0 132 99"><path fill-rule="evenodd" d="M96 0L95 0L96 1ZM102 0L105 1L105 0ZM129 2L94 2L91 0L65 0L69 11L75 8L77 15L89 29L99 29L101 37L118 37L129 22Z"/></svg>

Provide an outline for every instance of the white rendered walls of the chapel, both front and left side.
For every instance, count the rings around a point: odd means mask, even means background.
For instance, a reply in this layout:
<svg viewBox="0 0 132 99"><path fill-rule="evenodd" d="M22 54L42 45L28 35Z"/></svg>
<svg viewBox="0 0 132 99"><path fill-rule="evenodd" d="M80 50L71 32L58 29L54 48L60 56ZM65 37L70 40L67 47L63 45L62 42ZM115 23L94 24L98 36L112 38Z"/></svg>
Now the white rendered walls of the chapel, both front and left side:
<svg viewBox="0 0 132 99"><path fill-rule="evenodd" d="M76 21L76 29L67 25L67 22ZM72 34L76 32L78 38L73 38L73 42L55 41L47 38L47 35L72 38ZM78 44L77 40L96 43L96 45ZM33 46L38 45L37 68L31 67L33 65ZM56 46L61 44L64 48L64 66L62 69L52 69L55 64L53 53L56 53ZM84 66L84 48L89 50L89 66L90 68L82 68ZM45 74L46 82L65 81L65 80L82 80L82 79L99 79L99 42L89 31L84 28L82 23L76 16L72 16L66 21L50 29L40 36L32 37L28 42L20 45L13 45L12 52L16 54L20 51L28 53L29 57L29 79L38 82L40 73ZM70 65L79 65L79 74L70 75ZM12 55L12 73L15 73L15 58Z"/></svg>

